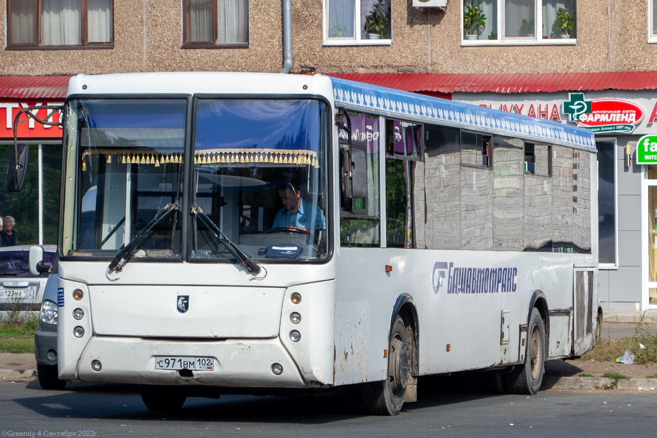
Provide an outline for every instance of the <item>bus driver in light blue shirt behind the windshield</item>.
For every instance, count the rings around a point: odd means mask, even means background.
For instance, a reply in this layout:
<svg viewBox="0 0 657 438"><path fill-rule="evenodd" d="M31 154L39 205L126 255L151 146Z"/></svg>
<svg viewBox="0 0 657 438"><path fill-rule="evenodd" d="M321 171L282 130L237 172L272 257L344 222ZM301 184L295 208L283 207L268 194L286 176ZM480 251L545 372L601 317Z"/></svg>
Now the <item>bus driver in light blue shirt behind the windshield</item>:
<svg viewBox="0 0 657 438"><path fill-rule="evenodd" d="M310 202L301 198L300 190L288 183L279 187L278 192L283 208L276 214L273 228L296 228L307 232L326 229L324 213L319 207L313 211Z"/></svg>

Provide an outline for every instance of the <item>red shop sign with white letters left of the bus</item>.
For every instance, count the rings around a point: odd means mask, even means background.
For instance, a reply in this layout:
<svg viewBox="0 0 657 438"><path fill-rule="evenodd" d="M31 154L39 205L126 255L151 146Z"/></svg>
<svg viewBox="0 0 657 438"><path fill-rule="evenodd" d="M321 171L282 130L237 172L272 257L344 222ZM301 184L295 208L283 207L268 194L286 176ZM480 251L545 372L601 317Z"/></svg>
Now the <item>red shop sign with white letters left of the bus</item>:
<svg viewBox="0 0 657 438"><path fill-rule="evenodd" d="M12 126L14 117L18 114L20 108L37 105L61 105L62 101L39 99L39 100L0 100L0 139L13 139L14 133ZM34 115L38 118L45 118L49 113L47 110L35 110ZM57 112L53 119L57 120L61 114ZM27 116L21 116L21 120ZM58 126L41 125L34 119L25 123L18 123L18 139L53 139L62 137L62 128Z"/></svg>

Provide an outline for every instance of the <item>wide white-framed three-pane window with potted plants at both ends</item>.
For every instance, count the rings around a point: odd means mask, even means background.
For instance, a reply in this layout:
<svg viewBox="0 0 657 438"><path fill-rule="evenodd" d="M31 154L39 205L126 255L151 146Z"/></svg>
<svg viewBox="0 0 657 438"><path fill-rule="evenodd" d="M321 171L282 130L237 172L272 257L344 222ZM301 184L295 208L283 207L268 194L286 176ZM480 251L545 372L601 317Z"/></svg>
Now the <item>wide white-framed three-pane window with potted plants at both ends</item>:
<svg viewBox="0 0 657 438"><path fill-rule="evenodd" d="M572 43L575 10L575 0L463 0L463 41Z"/></svg>

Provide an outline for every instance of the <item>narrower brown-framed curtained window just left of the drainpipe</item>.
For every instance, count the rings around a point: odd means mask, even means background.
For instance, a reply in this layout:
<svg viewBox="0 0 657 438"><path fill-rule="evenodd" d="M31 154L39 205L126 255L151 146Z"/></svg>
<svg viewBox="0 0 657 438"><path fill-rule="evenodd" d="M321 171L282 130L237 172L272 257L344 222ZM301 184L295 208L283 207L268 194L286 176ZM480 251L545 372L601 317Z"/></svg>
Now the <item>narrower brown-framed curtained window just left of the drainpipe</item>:
<svg viewBox="0 0 657 438"><path fill-rule="evenodd" d="M248 47L248 0L183 0L183 47Z"/></svg>

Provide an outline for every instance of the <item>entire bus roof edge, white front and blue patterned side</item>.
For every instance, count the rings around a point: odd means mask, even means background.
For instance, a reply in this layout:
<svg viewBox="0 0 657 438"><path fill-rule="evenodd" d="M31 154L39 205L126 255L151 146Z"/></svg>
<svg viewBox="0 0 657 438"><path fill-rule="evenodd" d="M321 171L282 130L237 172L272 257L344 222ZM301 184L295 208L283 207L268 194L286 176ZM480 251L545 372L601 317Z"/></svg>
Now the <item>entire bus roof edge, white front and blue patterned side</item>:
<svg viewBox="0 0 657 438"><path fill-rule="evenodd" d="M306 89L304 89L306 86ZM79 74L67 95L323 95L336 106L482 133L520 137L596 152L595 137L578 127L453 100L323 75L242 72Z"/></svg>

